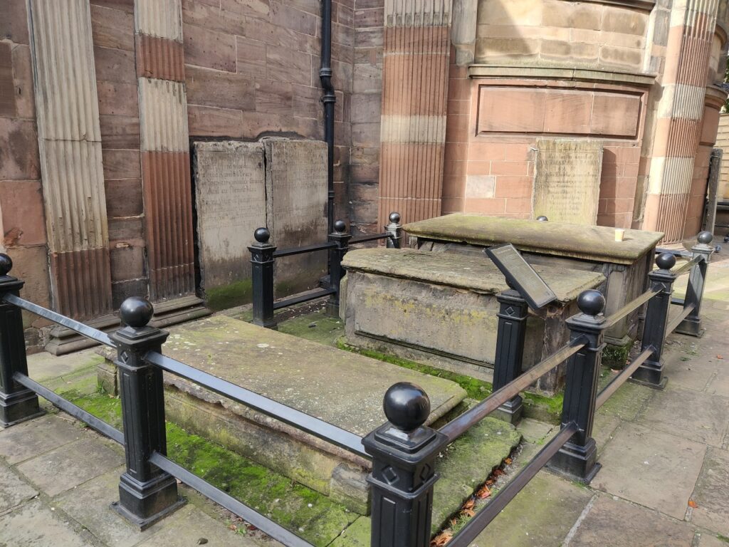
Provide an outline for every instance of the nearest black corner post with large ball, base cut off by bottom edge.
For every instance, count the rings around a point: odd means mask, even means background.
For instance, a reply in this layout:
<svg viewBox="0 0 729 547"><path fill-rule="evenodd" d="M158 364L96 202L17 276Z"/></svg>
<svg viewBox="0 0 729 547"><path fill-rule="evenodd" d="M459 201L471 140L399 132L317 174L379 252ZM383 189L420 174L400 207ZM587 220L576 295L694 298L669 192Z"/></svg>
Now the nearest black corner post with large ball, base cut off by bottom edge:
<svg viewBox="0 0 729 547"><path fill-rule="evenodd" d="M430 400L420 387L401 382L384 399L388 423L362 443L373 457L373 547L428 547L433 509L433 485L438 480L434 460L448 443L443 433L424 427Z"/></svg>

